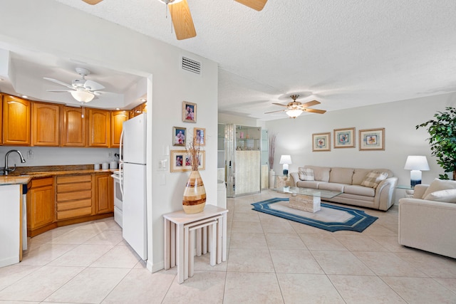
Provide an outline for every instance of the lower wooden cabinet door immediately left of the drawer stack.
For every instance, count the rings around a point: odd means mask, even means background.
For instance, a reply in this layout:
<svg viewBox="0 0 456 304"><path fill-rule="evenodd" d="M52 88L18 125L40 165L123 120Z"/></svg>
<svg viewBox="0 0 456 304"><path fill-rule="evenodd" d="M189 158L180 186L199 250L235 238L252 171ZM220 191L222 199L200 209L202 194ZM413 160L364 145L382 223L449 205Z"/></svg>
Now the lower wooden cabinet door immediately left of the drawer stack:
<svg viewBox="0 0 456 304"><path fill-rule="evenodd" d="M27 192L27 235L36 236L55 227L54 178L32 179Z"/></svg>

